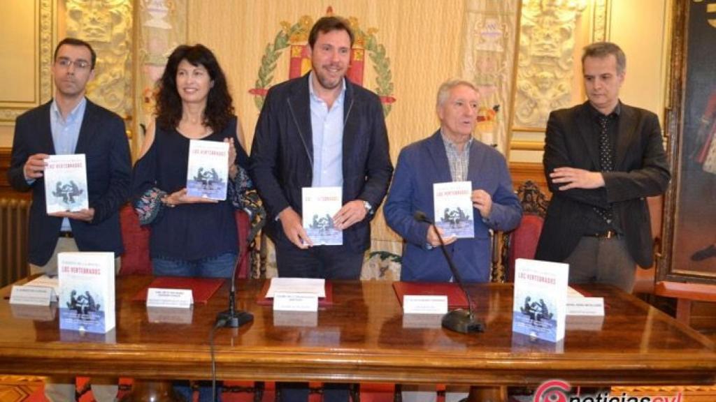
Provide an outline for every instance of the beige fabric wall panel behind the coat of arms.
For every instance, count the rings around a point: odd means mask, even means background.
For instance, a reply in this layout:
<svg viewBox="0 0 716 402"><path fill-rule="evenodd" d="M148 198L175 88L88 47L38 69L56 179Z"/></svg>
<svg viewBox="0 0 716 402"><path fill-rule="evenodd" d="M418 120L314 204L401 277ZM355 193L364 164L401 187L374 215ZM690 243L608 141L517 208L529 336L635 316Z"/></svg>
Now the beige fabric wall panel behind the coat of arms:
<svg viewBox="0 0 716 402"><path fill-rule="evenodd" d="M332 6L334 14L355 17L364 31L377 29L377 39L390 58L393 97L397 100L386 119L390 153L427 137L438 127L435 117L437 87L460 72L463 0L191 0L188 5L188 41L211 48L225 70L234 106L248 147L258 119L253 88L266 44L273 43L281 21L295 24L307 15L315 21ZM274 82L288 77L289 55L276 62ZM364 86L375 90L373 64L366 57ZM382 211L376 217L374 240L397 240L387 229ZM384 247L382 247L384 249Z"/></svg>

